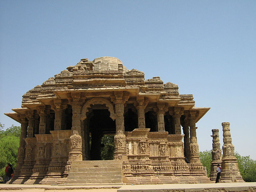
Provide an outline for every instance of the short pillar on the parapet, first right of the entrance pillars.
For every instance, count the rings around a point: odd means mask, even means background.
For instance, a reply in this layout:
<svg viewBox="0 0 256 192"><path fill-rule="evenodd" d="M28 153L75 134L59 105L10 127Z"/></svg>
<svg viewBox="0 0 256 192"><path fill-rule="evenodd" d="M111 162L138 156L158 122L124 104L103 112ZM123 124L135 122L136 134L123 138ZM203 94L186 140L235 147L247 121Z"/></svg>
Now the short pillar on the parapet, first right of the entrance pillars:
<svg viewBox="0 0 256 192"><path fill-rule="evenodd" d="M144 97L137 97L137 101L134 102L134 106L138 113L138 128L146 128L145 126L145 108L148 105L148 101Z"/></svg>

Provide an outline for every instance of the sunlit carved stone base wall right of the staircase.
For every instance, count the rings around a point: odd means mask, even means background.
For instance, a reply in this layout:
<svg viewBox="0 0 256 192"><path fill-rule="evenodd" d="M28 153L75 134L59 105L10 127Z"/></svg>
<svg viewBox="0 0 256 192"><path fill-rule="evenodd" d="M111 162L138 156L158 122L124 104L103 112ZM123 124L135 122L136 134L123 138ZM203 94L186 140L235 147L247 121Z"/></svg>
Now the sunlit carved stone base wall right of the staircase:
<svg viewBox="0 0 256 192"><path fill-rule="evenodd" d="M183 136L143 128L126 132L128 161L123 162L123 182L210 183L200 162L184 161Z"/></svg>

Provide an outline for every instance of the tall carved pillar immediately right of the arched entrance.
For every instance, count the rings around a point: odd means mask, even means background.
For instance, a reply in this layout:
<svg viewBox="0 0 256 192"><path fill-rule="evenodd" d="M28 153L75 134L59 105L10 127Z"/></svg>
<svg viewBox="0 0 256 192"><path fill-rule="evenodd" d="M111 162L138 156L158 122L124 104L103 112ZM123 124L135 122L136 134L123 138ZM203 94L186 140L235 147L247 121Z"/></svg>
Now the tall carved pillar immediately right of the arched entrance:
<svg viewBox="0 0 256 192"><path fill-rule="evenodd" d="M115 140L115 150L114 159L115 160L125 160L126 155L126 145L125 145L125 126L124 126L124 104L128 100L129 96L124 96L123 91L116 91L114 97L111 100L115 104L116 110L116 134Z"/></svg>

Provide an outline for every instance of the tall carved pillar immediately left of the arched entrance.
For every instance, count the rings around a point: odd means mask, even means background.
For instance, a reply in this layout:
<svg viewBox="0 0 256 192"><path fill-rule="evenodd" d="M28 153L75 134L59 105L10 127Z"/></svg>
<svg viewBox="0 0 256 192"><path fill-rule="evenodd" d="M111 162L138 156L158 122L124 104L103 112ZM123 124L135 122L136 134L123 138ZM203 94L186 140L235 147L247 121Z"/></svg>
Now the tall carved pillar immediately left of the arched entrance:
<svg viewBox="0 0 256 192"><path fill-rule="evenodd" d="M80 94L72 95L72 134L70 136L69 161L65 167L65 175L68 174L72 161L82 161L82 137L81 137L81 108Z"/></svg>

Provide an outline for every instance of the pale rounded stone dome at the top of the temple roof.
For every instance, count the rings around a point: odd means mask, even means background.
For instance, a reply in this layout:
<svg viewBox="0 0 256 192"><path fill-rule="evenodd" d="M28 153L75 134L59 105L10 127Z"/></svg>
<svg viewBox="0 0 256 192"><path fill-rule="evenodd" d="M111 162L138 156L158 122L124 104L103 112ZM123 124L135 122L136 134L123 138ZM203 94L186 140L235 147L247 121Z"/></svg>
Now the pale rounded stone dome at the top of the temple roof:
<svg viewBox="0 0 256 192"><path fill-rule="evenodd" d="M116 57L99 57L93 60L93 70L118 70L118 64L123 64ZM127 72L128 69L123 66L123 72Z"/></svg>

